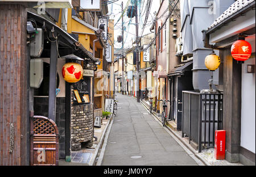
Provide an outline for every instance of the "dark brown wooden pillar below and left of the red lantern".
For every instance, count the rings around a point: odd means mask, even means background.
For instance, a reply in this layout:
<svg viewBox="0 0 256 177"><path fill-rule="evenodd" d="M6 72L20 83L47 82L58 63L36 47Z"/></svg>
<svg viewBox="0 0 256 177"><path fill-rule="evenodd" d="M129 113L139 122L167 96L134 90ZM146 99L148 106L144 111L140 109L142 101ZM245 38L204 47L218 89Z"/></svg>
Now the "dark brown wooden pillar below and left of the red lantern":
<svg viewBox="0 0 256 177"><path fill-rule="evenodd" d="M226 130L226 159L239 162L241 138L242 64L232 58L230 48L224 52L223 128Z"/></svg>

